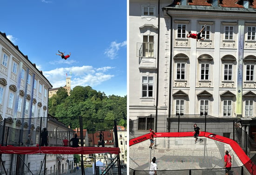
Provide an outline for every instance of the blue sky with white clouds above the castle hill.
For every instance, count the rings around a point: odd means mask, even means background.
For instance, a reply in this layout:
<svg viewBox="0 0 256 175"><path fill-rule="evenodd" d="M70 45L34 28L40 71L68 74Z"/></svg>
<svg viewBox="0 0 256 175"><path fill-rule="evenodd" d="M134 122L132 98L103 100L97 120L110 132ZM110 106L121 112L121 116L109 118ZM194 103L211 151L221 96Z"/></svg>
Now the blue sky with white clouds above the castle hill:
<svg viewBox="0 0 256 175"><path fill-rule="evenodd" d="M126 0L1 0L0 31L53 88L127 94ZM60 50L70 58L61 59Z"/></svg>

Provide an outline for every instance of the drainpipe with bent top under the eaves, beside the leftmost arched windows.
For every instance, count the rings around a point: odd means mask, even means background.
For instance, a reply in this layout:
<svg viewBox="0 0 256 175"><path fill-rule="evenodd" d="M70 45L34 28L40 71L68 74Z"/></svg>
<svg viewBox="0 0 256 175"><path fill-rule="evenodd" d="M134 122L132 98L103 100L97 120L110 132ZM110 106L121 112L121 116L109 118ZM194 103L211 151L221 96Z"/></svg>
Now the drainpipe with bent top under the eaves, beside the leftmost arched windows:
<svg viewBox="0 0 256 175"><path fill-rule="evenodd" d="M165 9L167 15L171 18L171 23L170 23L170 30L171 30L171 37L170 37L170 67L169 67L169 101L168 101L168 118L171 117L171 103L172 103L172 57L173 57L173 52L172 52L172 47L173 47L173 32L172 32L172 16L168 13L168 8ZM171 122L169 120L169 122ZM168 123L170 125L170 123ZM170 129L168 130L170 132Z"/></svg>

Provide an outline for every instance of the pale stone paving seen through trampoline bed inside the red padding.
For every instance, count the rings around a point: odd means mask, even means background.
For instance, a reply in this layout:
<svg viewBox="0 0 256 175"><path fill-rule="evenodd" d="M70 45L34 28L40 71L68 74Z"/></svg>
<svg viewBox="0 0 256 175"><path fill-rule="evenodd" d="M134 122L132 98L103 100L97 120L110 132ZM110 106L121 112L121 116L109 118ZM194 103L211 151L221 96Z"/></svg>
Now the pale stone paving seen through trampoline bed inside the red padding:
<svg viewBox="0 0 256 175"><path fill-rule="evenodd" d="M232 167L243 166L229 144L206 137L197 143L193 137L155 138L154 149L149 144L146 140L129 147L129 168L148 171L153 157L158 170L223 168L225 150L232 156Z"/></svg>

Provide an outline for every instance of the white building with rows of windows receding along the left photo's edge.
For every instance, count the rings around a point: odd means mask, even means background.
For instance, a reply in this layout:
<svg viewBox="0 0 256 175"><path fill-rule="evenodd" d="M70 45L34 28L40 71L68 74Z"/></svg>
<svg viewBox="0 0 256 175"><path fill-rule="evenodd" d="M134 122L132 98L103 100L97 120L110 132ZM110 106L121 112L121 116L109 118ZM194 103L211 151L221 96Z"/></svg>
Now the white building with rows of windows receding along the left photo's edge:
<svg viewBox="0 0 256 175"><path fill-rule="evenodd" d="M31 134L34 145L39 144L40 117L42 128L47 128L49 88L52 85L42 71L7 39L5 33L0 33L1 144L3 141L4 145L22 146L28 134ZM21 155L21 158L31 170L40 170L43 156ZM24 163L17 163L17 157L3 154L0 171L4 168L8 172L26 169Z"/></svg>

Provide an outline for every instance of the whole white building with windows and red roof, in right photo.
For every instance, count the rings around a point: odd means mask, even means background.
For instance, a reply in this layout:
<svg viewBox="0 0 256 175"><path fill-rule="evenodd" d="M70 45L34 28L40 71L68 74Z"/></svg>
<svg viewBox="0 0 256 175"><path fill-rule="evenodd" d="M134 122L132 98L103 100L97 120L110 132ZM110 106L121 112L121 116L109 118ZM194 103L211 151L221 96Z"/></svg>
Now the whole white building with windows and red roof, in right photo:
<svg viewBox="0 0 256 175"><path fill-rule="evenodd" d="M256 125L255 0L129 0L128 62L135 135L175 114Z"/></svg>

